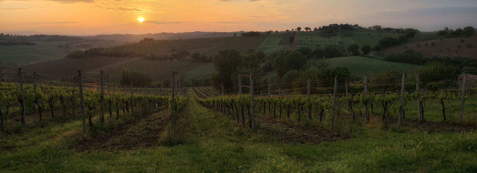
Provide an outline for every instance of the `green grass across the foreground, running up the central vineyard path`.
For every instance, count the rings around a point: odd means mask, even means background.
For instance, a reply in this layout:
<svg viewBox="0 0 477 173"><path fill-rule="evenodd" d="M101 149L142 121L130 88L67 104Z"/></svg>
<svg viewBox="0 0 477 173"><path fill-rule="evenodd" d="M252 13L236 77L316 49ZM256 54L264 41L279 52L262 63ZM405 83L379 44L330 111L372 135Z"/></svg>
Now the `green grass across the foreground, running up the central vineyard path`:
<svg viewBox="0 0 477 173"><path fill-rule="evenodd" d="M201 107L192 95L183 110L185 141L176 146L75 152L78 121L1 136L15 144L0 151L4 173L26 172L437 172L477 171L477 133L425 133L405 127L380 130L341 124L353 136L320 144L282 143L251 133L224 115ZM339 123L338 123L339 124ZM24 139L27 140L24 140Z"/></svg>

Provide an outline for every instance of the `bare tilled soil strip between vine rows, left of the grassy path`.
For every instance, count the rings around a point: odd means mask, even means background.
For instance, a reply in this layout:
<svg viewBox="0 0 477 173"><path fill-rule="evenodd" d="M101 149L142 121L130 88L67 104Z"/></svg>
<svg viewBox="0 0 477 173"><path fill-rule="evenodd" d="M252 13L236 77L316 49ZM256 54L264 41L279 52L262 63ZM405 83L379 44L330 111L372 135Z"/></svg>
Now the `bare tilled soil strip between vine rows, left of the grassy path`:
<svg viewBox="0 0 477 173"><path fill-rule="evenodd" d="M131 119L105 134L85 140L82 144L74 146L73 150L78 152L86 150L114 151L156 146L169 118L170 110L162 109L140 118Z"/></svg>

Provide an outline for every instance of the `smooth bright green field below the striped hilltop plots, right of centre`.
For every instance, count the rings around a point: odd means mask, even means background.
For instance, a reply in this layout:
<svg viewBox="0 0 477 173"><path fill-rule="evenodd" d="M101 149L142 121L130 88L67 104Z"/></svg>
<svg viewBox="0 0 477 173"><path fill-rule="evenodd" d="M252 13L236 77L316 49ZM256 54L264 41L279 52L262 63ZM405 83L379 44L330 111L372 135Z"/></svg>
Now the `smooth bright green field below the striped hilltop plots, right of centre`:
<svg viewBox="0 0 477 173"><path fill-rule="evenodd" d="M373 74L374 70L377 72L386 71L397 68L403 72L407 72L412 68L420 67L416 64L395 63L374 58L365 58L361 56L347 56L329 58L329 67L336 67L340 65L347 65L352 75L361 76L364 73Z"/></svg>

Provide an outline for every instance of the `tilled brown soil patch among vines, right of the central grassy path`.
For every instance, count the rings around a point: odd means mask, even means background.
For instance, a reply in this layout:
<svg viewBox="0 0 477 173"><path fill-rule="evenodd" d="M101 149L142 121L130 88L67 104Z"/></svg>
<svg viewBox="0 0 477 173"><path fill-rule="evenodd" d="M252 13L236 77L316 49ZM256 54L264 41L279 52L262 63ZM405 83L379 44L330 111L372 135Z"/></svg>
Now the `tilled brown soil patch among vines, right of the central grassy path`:
<svg viewBox="0 0 477 173"><path fill-rule="evenodd" d="M316 127L303 127L277 122L273 118L261 117L258 119L260 131L264 134L274 135L284 143L314 143L324 141L337 141L342 139L338 134Z"/></svg>

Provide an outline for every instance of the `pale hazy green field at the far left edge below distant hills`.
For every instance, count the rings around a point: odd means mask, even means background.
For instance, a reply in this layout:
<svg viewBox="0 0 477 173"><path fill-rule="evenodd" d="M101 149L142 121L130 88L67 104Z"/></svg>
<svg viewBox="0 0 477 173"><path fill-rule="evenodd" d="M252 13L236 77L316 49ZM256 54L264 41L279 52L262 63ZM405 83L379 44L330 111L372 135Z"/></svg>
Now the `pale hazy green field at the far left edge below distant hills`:
<svg viewBox="0 0 477 173"><path fill-rule="evenodd" d="M17 62L18 65L62 59L68 55L63 48L29 45L0 45L0 52L2 63Z"/></svg>

